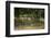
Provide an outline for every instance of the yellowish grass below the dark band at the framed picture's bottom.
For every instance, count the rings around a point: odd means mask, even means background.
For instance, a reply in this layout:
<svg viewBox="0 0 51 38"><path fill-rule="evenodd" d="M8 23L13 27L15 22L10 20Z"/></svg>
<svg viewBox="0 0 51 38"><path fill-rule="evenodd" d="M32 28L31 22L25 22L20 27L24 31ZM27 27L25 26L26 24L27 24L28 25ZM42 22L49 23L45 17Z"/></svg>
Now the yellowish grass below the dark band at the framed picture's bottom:
<svg viewBox="0 0 51 38"><path fill-rule="evenodd" d="M37 22L34 24L30 25L18 25L16 26L16 30L23 30L23 29L44 29L44 23L43 22Z"/></svg>

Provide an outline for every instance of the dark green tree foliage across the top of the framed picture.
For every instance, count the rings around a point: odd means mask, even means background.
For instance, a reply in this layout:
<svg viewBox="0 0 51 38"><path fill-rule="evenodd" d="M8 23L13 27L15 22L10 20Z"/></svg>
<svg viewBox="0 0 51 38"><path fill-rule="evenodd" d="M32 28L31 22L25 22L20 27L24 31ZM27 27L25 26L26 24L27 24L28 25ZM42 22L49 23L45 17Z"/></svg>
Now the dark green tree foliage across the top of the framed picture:
<svg viewBox="0 0 51 38"><path fill-rule="evenodd" d="M14 8L14 16L19 17L20 15L27 15L30 17L44 18L44 9L27 9L27 8Z"/></svg>

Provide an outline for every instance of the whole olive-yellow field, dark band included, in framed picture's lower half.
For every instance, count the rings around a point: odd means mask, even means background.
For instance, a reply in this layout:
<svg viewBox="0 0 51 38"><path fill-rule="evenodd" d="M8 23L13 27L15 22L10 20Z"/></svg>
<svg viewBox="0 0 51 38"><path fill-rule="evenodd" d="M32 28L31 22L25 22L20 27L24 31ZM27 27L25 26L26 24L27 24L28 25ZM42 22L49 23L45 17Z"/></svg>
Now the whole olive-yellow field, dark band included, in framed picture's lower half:
<svg viewBox="0 0 51 38"><path fill-rule="evenodd" d="M18 23L17 23L18 24ZM23 21L23 23L18 24L16 29L44 29L44 22L42 21Z"/></svg>

